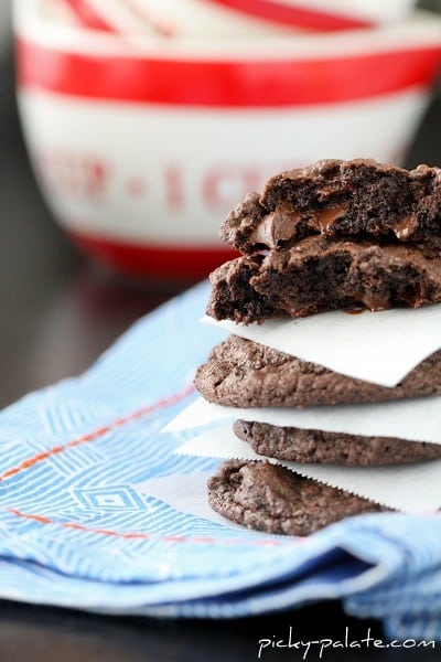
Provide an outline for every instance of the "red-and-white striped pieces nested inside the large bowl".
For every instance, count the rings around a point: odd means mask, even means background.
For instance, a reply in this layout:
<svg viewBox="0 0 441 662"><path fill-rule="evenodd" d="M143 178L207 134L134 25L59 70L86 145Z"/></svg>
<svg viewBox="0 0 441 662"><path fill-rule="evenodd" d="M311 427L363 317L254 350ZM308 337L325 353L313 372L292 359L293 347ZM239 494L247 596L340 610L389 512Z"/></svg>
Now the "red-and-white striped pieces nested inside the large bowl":
<svg viewBox="0 0 441 662"><path fill-rule="evenodd" d="M402 20L415 0L64 0L64 3L79 24L104 32L244 38L302 29L373 28Z"/></svg>

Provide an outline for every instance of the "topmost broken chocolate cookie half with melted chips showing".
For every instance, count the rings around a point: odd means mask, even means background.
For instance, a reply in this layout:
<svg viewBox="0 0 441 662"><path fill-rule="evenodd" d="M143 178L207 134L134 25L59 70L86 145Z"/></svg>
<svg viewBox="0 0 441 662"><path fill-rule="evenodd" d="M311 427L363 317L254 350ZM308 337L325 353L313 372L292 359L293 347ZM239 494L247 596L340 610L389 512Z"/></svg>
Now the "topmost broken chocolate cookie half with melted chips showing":
<svg viewBox="0 0 441 662"><path fill-rule="evenodd" d="M290 247L305 236L427 242L441 237L441 170L373 160L324 160L271 178L220 228L240 253Z"/></svg>

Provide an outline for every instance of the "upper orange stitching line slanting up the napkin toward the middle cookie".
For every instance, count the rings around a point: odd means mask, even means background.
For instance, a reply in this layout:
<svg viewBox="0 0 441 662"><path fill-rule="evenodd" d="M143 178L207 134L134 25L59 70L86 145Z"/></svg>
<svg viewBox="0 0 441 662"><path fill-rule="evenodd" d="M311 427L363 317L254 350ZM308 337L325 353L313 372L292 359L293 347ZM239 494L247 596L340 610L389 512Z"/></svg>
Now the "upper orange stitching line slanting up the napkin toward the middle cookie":
<svg viewBox="0 0 441 662"><path fill-rule="evenodd" d="M152 412L155 412L157 409L162 409L163 407L168 407L169 405L174 405L175 403L179 403L181 399L184 399L184 397L190 395L193 391L194 391L194 386L193 386L193 384L190 384L180 393L174 393L173 395L171 395L169 397L162 398L162 399L158 401L157 403L154 403L153 405L147 405L146 407L142 407L141 409L138 409L137 412L132 412L131 414L128 414L127 416L121 416L120 418L117 418L116 420L114 420L114 423L110 423L109 425L106 425L104 427L100 427L100 428L92 431L92 433L88 433L87 435L82 435L80 437L77 437L76 439L73 439L72 441L67 441L67 444L63 444L62 446L53 446L52 448L50 448L49 450L45 450L44 452L39 452L39 453L34 455L32 458L29 458L28 460L23 460L17 467L12 467L11 469L8 469L7 471L4 471L4 473L2 473L0 476L0 481L4 480L6 478L10 478L11 476L15 476L17 473L21 473L21 471L24 471L25 469L29 469L30 467L34 467L34 465L37 465L39 462L43 462L44 460L47 460L49 458L52 458L53 456L58 455L60 452L63 452L64 450L68 450L69 448L75 448L75 446L80 446L82 444L88 444L89 441L95 441L96 439L99 439L99 437L103 437L104 435L106 435L107 433L110 433L115 428L118 428L128 423L131 423L132 420L136 420L137 418L142 418L142 416L147 416L148 414L151 414Z"/></svg>

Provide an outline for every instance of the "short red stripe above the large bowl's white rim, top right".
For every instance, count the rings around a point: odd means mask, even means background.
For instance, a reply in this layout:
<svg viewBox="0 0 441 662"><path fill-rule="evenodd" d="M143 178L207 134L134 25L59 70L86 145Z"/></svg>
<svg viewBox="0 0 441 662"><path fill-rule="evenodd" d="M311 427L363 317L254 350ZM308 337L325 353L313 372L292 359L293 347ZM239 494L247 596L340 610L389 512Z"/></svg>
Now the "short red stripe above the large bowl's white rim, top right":
<svg viewBox="0 0 441 662"><path fill-rule="evenodd" d="M354 28L370 28L372 21L355 19L305 7L292 7L277 0L207 0L228 9L271 21L291 28L308 28L327 32L333 30L351 30Z"/></svg>

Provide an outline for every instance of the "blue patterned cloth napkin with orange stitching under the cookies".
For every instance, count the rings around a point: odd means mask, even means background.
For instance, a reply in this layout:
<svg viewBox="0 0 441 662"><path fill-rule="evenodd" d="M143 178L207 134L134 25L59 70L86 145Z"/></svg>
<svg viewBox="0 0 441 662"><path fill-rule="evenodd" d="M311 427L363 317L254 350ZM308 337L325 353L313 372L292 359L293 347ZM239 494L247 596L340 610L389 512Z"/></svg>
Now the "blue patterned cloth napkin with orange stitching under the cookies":
<svg viewBox="0 0 441 662"><path fill-rule="evenodd" d="M219 463L174 455L192 431L160 434L225 335L197 321L207 296L203 284L172 300L82 376L0 414L0 597L212 618L342 598L390 637L441 638L438 516L359 516L290 538L149 493L184 481L191 501Z"/></svg>

